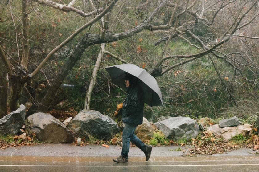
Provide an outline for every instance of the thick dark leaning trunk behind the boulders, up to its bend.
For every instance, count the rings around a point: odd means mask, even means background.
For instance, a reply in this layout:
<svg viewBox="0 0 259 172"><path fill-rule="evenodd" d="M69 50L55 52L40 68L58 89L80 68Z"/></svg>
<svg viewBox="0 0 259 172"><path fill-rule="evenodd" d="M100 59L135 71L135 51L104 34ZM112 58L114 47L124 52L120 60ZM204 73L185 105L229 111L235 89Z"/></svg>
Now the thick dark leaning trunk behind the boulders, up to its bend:
<svg viewBox="0 0 259 172"><path fill-rule="evenodd" d="M88 46L89 43L87 42L87 36L77 43L68 61L66 61L66 63L62 66L62 68L60 69L60 73L55 76L53 84L51 84L51 87L48 89L46 95L44 96L41 104L38 107L38 111L46 112L48 110L63 80L74 67L76 62L81 58L82 54L84 53L84 50Z"/></svg>

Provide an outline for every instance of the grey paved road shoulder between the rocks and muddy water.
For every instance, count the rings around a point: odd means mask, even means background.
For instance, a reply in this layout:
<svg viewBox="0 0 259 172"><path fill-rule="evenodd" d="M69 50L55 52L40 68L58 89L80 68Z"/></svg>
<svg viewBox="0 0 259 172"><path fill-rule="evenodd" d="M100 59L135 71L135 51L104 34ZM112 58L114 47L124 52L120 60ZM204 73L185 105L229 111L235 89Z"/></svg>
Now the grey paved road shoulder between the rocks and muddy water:
<svg viewBox="0 0 259 172"><path fill-rule="evenodd" d="M186 154L188 147L159 146L153 147L152 157L179 157ZM121 154L121 147L111 145L109 148L101 145L75 146L72 144L43 143L35 146L10 147L0 150L0 156L55 156L55 157L117 157ZM236 149L225 154L211 156L258 156L251 149ZM143 157L143 152L137 147L130 147L129 157Z"/></svg>

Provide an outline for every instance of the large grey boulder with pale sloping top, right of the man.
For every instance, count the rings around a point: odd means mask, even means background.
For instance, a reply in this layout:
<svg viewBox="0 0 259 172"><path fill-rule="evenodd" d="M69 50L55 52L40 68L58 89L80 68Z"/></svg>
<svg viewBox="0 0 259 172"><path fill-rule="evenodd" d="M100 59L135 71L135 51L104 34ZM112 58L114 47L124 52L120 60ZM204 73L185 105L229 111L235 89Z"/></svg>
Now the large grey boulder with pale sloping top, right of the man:
<svg viewBox="0 0 259 172"><path fill-rule="evenodd" d="M154 123L154 125L158 127L167 138L196 138L200 131L197 121L183 116L171 117L164 121Z"/></svg>

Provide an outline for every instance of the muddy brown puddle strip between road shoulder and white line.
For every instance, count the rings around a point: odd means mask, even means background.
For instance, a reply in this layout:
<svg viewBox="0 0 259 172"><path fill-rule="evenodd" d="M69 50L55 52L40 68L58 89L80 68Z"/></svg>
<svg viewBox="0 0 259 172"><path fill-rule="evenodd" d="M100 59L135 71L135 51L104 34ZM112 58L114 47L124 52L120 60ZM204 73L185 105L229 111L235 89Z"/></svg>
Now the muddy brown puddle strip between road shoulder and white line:
<svg viewBox="0 0 259 172"><path fill-rule="evenodd" d="M87 164L102 164L114 165L113 158L116 157L44 157L44 156L0 156L1 164L18 164L18 165L87 165ZM203 156L203 157L151 157L148 162L145 158L130 157L129 163L139 164L196 164L196 163L233 163L233 162L251 162L259 161L259 156Z"/></svg>

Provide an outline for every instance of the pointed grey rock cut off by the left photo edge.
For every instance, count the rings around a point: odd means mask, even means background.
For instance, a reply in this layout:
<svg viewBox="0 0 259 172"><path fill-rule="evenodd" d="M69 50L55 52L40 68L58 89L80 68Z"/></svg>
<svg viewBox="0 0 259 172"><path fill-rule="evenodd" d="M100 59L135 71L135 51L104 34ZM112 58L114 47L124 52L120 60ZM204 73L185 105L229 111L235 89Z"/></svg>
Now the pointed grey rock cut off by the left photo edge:
<svg viewBox="0 0 259 172"><path fill-rule="evenodd" d="M24 125L25 118L25 106L23 104L10 114L0 119L0 134L12 134L16 135L20 128Z"/></svg>

